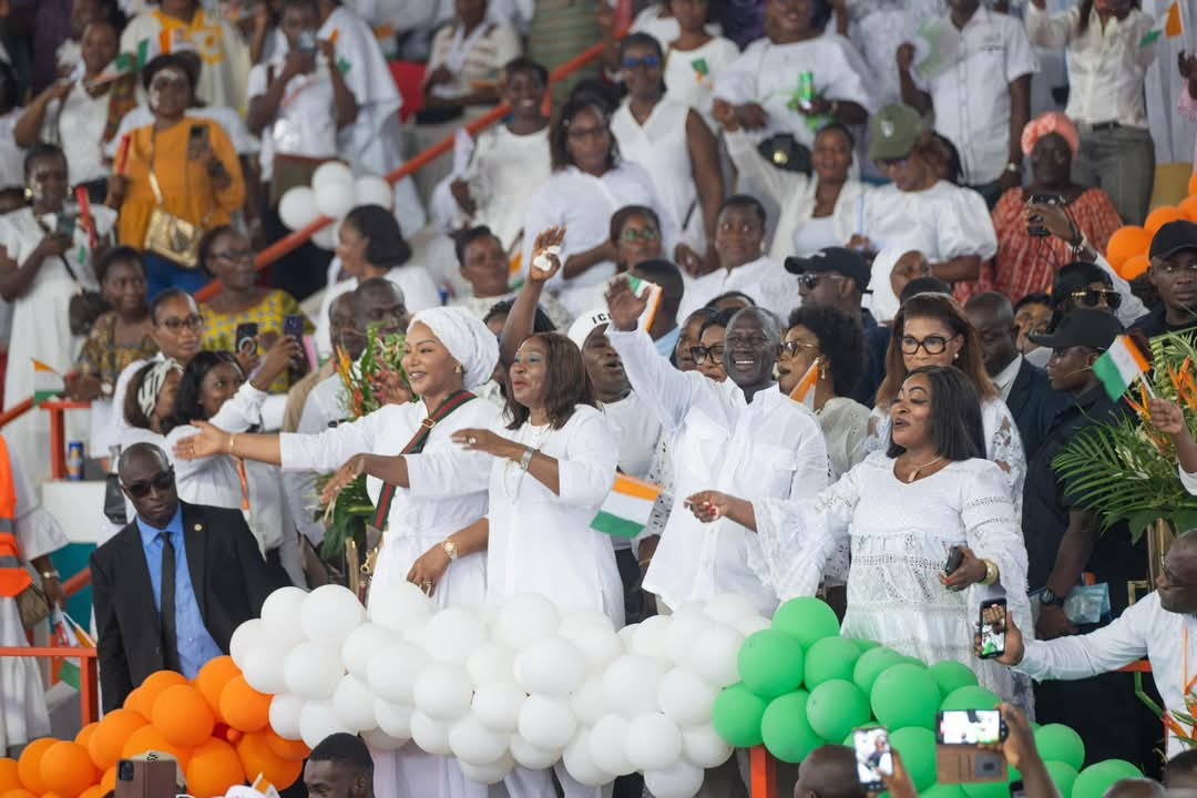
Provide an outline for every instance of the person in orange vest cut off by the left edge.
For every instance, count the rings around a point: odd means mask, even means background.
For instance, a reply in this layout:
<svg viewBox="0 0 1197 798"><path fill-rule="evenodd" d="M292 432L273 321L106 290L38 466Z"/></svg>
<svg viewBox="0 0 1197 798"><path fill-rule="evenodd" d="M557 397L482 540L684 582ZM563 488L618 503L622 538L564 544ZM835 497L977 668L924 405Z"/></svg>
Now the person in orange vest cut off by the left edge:
<svg viewBox="0 0 1197 798"><path fill-rule="evenodd" d="M0 437L0 646L28 646L17 596L40 579L47 598L62 604L65 595L50 553L67 544L54 516L38 501L20 462ZM30 573L34 566L38 577ZM45 687L37 660L0 657L0 753L50 733Z"/></svg>

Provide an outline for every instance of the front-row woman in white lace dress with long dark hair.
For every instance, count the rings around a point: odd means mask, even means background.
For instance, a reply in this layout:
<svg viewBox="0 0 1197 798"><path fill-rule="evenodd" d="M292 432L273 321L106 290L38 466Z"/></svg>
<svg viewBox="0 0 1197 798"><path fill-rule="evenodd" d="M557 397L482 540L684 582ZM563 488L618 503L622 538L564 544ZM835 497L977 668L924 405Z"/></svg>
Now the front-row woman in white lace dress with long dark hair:
<svg viewBox="0 0 1197 798"><path fill-rule="evenodd" d="M689 498L701 520L727 516L760 536L749 565L783 601L813 596L850 542L844 636L875 640L931 664L954 659L1023 706L1013 672L973 654L982 598L1004 595L1019 628L1031 620L1027 552L1002 471L985 461L977 391L958 368L912 371L892 404L887 451L874 452L812 499ZM944 575L953 547L964 554Z"/></svg>

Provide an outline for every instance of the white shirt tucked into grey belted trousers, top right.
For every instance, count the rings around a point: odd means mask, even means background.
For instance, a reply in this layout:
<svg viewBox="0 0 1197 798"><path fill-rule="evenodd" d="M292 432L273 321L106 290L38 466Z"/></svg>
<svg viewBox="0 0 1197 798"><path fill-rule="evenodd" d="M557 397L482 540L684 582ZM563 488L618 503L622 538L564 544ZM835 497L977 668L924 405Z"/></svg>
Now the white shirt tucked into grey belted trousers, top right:
<svg viewBox="0 0 1197 798"><path fill-rule="evenodd" d="M1094 8L1083 35L1076 32L1081 12L1074 6L1057 14L1027 5L1027 31L1039 47L1068 48L1068 108L1077 123L1118 122L1147 128L1143 75L1155 60L1157 42L1138 43L1154 20L1138 8L1125 19L1111 17L1105 30Z"/></svg>

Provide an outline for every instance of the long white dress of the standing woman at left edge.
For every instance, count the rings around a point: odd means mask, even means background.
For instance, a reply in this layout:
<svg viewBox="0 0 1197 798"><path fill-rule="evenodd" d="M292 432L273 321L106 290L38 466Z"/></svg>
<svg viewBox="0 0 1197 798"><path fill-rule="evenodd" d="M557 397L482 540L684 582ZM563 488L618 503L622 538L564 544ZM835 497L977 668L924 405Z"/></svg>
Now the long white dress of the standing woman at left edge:
<svg viewBox="0 0 1197 798"><path fill-rule="evenodd" d="M116 221L116 212L102 205L91 207L97 233L108 236ZM55 213L42 221L54 230ZM0 217L0 246L19 267L45 237L45 229L34 218L31 208L20 208ZM4 404L13 407L34 394L34 365L36 358L61 374L74 366L75 355L83 339L71 334L67 306L71 297L80 288L97 290L92 272L91 252L86 250L87 233L81 225L75 226L74 245L63 257L48 257L37 270L25 293L13 301L12 339L8 343L8 370L5 373ZM83 263L78 254L85 252ZM63 258L69 258L67 270ZM74 273L74 278L71 276ZM91 420L86 410L66 414L67 440L85 440ZM8 446L20 458L25 474L35 485L49 477L50 473L50 420L44 410L30 410L5 427ZM107 453L107 452L102 452Z"/></svg>

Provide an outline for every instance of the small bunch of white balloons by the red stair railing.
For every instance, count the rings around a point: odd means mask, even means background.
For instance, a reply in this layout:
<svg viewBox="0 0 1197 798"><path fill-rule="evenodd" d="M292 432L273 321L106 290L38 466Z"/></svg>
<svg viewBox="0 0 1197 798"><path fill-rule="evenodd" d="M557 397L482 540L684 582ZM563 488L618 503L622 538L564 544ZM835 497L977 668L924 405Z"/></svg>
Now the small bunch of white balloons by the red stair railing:
<svg viewBox="0 0 1197 798"><path fill-rule="evenodd" d="M311 185L296 185L279 200L279 218L288 230L302 230L320 217L340 221L359 205L395 208L395 190L376 175L354 177L348 166L330 160L316 167ZM322 227L311 237L322 249L336 246L336 224Z"/></svg>

